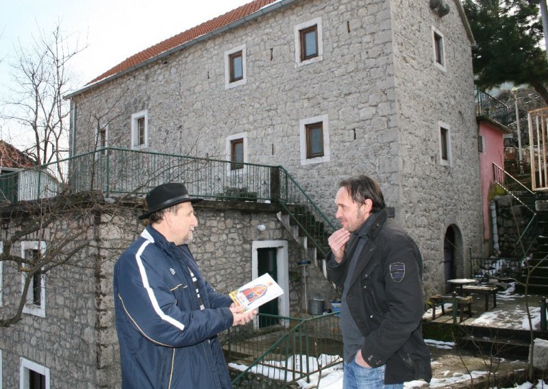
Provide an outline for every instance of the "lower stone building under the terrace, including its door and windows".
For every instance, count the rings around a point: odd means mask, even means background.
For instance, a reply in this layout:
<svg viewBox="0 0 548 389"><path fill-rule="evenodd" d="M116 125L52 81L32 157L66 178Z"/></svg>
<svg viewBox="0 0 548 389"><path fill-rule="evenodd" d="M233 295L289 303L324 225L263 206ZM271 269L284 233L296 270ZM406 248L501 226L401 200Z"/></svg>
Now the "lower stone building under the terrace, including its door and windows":
<svg viewBox="0 0 548 389"><path fill-rule="evenodd" d="M113 268L121 250L140 234L144 224L137 218L143 212L142 201L122 207L109 204L99 199L79 210L64 212L10 250L23 258L36 251L47 255L48 250L60 248L75 253L34 279L37 288L30 288L21 321L0 329L4 388L34 388L30 382L36 384L40 379L46 388L120 388ZM306 314L301 299L303 285L295 277L301 273L295 259L302 258L302 249L277 220L279 208L264 203L250 208L246 203L203 201L195 209L199 228L191 249L205 279L216 290L229 293L247 283L253 273L252 263L273 249L277 279L285 291L279 297L277 313L293 317ZM42 220L39 214L14 208L4 208L1 216L4 228L0 242L21 230L29 219ZM58 258L51 260L60 261ZM12 263L5 265L0 266L3 318L17 309L24 277ZM326 300L336 298L319 269L309 266L308 276L309 293ZM33 292L38 292L38 298L30 297Z"/></svg>

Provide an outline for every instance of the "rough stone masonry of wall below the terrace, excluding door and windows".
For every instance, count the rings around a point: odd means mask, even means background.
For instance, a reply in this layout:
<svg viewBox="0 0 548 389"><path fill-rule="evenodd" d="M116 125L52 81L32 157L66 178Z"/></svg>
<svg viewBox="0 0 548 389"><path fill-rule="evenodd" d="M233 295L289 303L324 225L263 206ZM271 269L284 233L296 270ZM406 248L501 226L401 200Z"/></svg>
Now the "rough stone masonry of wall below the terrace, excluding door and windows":
<svg viewBox="0 0 548 389"><path fill-rule="evenodd" d="M277 220L279 210L270 205L253 212L249 205L243 208L227 201L203 201L196 206L199 228L190 247L204 277L222 293L251 280L254 241L286 241L290 271L299 272L297 262L304 257L302 249ZM29 237L47 242L53 231L71 236L84 229L85 239L92 244L78 253L71 264L55 267L47 274L45 318L23 314L20 322L0 329L5 388L18 387L21 357L49 368L51 388L120 388L112 271L121 251L145 228L136 218L141 211L134 207L115 212L110 209L79 223L61 219L43 231L43 238ZM2 230L1 240L13 234L17 224L12 219ZM264 224L266 229L259 231L258 224ZM66 247L71 248L70 244ZM309 267L309 277L314 290L326 302L336 297L335 290L314 266ZM289 313L295 316L299 313L301 283L290 278L285 292L290 301ZM12 262L6 262L2 317L16 309L20 294L21 273Z"/></svg>

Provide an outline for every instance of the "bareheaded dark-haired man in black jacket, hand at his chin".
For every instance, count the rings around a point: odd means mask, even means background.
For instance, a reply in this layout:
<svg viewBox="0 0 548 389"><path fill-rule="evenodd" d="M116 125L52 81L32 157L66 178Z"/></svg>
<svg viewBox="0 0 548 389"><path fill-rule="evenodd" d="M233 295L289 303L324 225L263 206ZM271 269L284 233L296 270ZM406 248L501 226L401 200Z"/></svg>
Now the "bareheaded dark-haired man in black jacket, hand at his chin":
<svg viewBox="0 0 548 389"><path fill-rule="evenodd" d="M422 258L416 243L388 219L383 194L370 177L340 181L329 237L327 273L343 290L343 387L403 388L432 378L422 338Z"/></svg>

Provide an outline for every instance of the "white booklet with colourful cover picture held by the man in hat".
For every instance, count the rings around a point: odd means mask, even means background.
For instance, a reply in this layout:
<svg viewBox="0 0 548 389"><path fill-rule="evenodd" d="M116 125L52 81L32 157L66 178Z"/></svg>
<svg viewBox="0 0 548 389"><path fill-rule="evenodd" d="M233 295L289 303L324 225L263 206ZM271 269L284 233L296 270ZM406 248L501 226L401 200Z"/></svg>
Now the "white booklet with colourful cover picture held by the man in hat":
<svg viewBox="0 0 548 389"><path fill-rule="evenodd" d="M269 273L253 279L241 288L229 293L234 305L243 305L244 311L254 310L264 303L284 294L284 290L272 279Z"/></svg>

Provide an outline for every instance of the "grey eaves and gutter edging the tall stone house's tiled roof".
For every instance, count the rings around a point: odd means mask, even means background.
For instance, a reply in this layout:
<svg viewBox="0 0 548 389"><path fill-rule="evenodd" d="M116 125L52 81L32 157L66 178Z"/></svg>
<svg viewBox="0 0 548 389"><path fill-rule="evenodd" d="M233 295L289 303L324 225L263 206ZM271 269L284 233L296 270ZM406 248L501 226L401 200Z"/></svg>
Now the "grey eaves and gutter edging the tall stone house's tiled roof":
<svg viewBox="0 0 548 389"><path fill-rule="evenodd" d="M187 47L195 45L198 42L201 42L202 40L206 40L206 39L211 38L212 36L219 35L219 34L225 32L229 29L232 29L234 27L238 27L239 25L242 25L243 23L247 23L248 21L252 21L253 19L258 18L259 16L262 16L264 14L267 14L269 12L277 10L278 8L282 8L282 7L284 7L286 5L289 5L290 3L293 3L295 1L297 1L297 0L281 0L281 1L276 1L274 3L271 3L269 5L266 5L265 7L260 8L259 10L257 10L256 12L253 12L252 14L244 16L243 18L240 18L236 21L233 21L232 23L229 23L227 25L223 25L222 27L219 27L218 29L215 29L212 32L208 32L208 34L203 34L201 36L197 36L196 38L194 38L192 40L189 40L188 42L184 42L182 45L173 47L172 49L169 49L167 51L164 51L163 53L155 55L154 57L149 58L148 60L139 62L138 64L136 64L136 65L134 65L130 68L127 68L127 69L125 69L125 70L123 70L119 73L115 73L115 74L110 75L108 77L105 77L103 79L99 79L99 80L95 81L92 84L88 84L88 85L84 86L84 88L80 88L78 90L75 90L75 92L69 93L69 95L65 95L63 97L63 99L71 99L72 97L74 97L76 95L81 95L82 93L87 92L88 90L90 90L92 88L95 88L97 86L101 86L103 84L106 84L107 82L110 82L110 81L112 81L116 78L119 78L119 77L122 77L123 75L126 75L127 73L132 73L133 71L136 71L138 68L145 67L145 66L151 64L152 62L156 62L158 60L161 60L162 58L165 58L165 57L167 57L167 56L169 56L169 55L171 55L171 54L173 54L177 51L184 50Z"/></svg>

